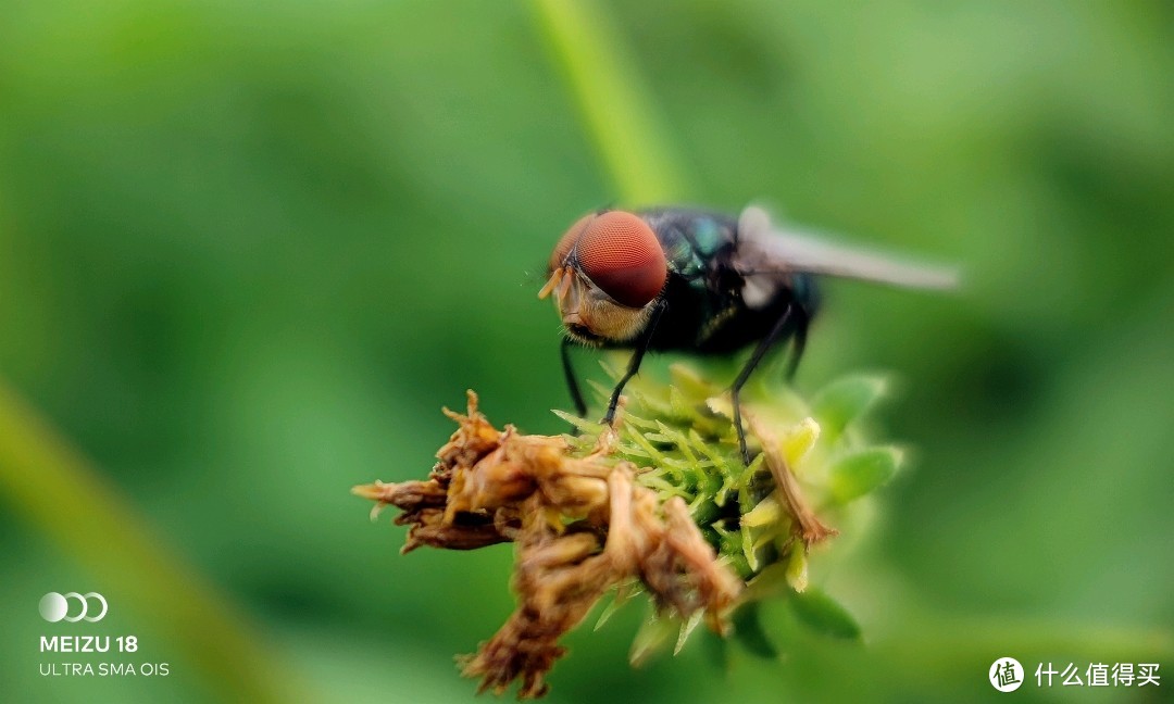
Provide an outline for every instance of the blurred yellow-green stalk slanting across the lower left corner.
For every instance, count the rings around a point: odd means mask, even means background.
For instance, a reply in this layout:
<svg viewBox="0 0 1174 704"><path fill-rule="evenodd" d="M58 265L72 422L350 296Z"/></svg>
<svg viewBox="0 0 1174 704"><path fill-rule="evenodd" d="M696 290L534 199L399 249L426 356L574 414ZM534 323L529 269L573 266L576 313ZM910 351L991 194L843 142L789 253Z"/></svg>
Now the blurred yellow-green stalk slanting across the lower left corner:
<svg viewBox="0 0 1174 704"><path fill-rule="evenodd" d="M229 700L290 702L298 689L237 612L158 540L117 489L0 380L0 494L94 575ZM38 595L39 597L40 595ZM32 603L32 602L29 602Z"/></svg>

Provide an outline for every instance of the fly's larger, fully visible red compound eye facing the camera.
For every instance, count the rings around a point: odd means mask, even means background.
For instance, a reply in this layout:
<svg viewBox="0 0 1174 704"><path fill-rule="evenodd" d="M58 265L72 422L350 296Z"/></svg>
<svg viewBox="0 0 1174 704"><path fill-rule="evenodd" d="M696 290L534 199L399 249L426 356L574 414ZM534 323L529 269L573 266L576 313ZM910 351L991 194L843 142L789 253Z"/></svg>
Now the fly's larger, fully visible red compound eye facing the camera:
<svg viewBox="0 0 1174 704"><path fill-rule="evenodd" d="M660 241L648 223L630 212L610 210L587 222L578 252L587 278L622 305L648 305L668 278Z"/></svg>

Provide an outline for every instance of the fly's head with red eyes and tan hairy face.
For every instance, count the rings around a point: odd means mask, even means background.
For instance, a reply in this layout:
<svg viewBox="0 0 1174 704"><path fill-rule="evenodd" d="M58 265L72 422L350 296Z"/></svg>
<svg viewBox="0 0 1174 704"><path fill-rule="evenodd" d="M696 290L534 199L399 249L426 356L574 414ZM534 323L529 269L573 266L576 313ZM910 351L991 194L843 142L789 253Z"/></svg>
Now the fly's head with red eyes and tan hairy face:
<svg viewBox="0 0 1174 704"><path fill-rule="evenodd" d="M567 334L592 346L639 336L668 279L656 235L622 210L591 214L571 225L548 270L538 297L554 293Z"/></svg>

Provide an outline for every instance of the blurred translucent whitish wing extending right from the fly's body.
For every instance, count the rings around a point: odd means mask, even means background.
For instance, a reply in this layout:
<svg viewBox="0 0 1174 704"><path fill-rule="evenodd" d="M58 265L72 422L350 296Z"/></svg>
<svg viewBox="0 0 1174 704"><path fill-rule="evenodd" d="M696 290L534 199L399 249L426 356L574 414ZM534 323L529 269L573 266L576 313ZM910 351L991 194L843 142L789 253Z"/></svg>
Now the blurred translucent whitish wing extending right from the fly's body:
<svg viewBox="0 0 1174 704"><path fill-rule="evenodd" d="M953 289L958 270L922 264L805 233L770 222L767 211L751 205L738 217L735 265L744 272L796 271L864 279L911 289Z"/></svg>

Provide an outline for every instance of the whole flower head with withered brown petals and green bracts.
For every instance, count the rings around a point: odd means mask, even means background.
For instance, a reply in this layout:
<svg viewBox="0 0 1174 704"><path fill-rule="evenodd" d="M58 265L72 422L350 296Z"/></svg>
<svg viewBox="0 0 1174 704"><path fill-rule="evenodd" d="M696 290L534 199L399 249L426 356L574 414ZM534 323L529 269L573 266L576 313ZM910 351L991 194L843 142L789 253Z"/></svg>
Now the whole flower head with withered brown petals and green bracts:
<svg viewBox="0 0 1174 704"><path fill-rule="evenodd" d="M559 638L618 589L648 594L657 628L681 629L679 647L700 621L724 635L737 605L780 585L824 630L858 632L825 595L801 593L808 549L836 534L814 506L839 510L896 468L896 451L861 449L844 432L879 385L850 379L817 397L814 409L830 431L818 447L821 426L809 409L781 415L745 404L758 446L745 467L728 399L686 367L673 373L673 386L635 384L635 404L614 429L564 414L578 436L498 429L470 391L466 413L445 409L458 427L426 481L355 487L377 502L373 514L400 510L394 522L410 526L403 553L514 543L518 607L461 658L463 673L479 677L481 690L501 693L517 679L520 698L542 696L565 652ZM654 641L637 636L633 657Z"/></svg>

